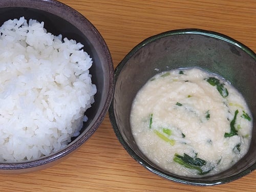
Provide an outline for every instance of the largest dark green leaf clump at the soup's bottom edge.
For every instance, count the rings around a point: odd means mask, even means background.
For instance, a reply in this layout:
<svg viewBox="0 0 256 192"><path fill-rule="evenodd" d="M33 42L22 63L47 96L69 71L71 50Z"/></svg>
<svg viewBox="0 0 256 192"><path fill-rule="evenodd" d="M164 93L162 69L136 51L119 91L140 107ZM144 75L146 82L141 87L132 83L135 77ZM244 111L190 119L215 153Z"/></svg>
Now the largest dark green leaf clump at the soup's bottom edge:
<svg viewBox="0 0 256 192"><path fill-rule="evenodd" d="M206 164L206 161L200 158L192 158L185 154L183 156L175 154L174 161L183 165L186 168L196 169L199 175L204 175L209 173L212 169L202 170L202 166Z"/></svg>

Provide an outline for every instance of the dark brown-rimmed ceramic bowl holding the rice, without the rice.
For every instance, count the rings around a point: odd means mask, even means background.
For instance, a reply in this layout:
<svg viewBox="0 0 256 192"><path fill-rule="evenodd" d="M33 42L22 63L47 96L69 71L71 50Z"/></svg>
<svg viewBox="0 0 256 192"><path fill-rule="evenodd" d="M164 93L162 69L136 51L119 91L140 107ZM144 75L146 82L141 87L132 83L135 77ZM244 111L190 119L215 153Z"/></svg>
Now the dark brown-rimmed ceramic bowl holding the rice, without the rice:
<svg viewBox="0 0 256 192"><path fill-rule="evenodd" d="M74 39L84 45L93 59L90 68L92 82L96 84L95 102L87 110L89 120L83 124L80 135L63 150L50 156L34 161L20 163L0 163L0 173L22 173L49 167L75 151L86 142L102 122L113 96L114 67L110 51L98 30L74 9L54 0L8 0L0 1L0 25L8 19L25 16L27 20L36 19L45 22L48 32L69 39Z"/></svg>

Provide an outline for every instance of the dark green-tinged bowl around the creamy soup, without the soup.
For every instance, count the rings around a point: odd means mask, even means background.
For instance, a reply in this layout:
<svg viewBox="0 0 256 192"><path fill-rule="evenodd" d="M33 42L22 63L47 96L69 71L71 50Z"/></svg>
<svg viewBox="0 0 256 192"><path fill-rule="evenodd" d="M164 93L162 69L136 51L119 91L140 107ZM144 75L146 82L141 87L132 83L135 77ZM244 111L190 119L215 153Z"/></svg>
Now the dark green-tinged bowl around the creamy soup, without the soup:
<svg viewBox="0 0 256 192"><path fill-rule="evenodd" d="M248 153L234 166L215 176L190 178L166 173L143 155L136 145L130 126L130 112L135 95L155 74L187 67L200 67L229 80L243 94L255 118L255 53L240 42L216 32L174 30L145 39L116 68L115 90L109 115L117 138L138 163L168 180L192 185L215 185L249 174L256 168L255 120Z"/></svg>

